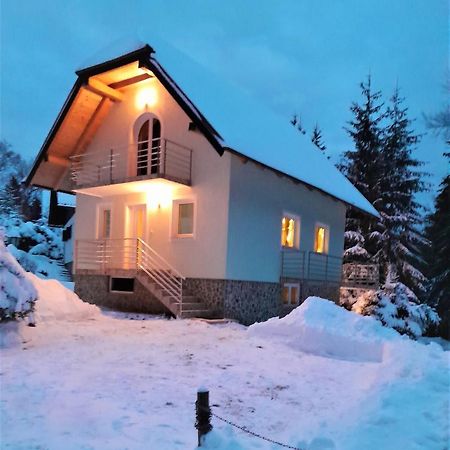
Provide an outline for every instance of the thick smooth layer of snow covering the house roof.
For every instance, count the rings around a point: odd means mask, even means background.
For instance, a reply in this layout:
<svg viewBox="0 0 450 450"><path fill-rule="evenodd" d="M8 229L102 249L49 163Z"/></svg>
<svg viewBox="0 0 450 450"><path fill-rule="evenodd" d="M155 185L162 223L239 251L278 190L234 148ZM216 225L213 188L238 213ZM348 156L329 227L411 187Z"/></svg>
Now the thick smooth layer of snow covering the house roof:
<svg viewBox="0 0 450 450"><path fill-rule="evenodd" d="M115 59L145 45L136 40L116 42L90 58L89 64ZM155 50L153 62L165 69L206 117L222 137L224 147L378 216L371 203L308 137L289 123L289 118L277 115L260 99L220 78L167 42L152 38L150 45Z"/></svg>

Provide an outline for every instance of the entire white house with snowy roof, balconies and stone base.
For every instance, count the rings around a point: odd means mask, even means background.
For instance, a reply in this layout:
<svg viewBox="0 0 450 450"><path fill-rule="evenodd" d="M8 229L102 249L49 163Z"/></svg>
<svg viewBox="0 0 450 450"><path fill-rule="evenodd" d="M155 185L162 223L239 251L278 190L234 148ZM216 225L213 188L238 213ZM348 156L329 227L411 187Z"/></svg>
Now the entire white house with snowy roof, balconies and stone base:
<svg viewBox="0 0 450 450"><path fill-rule="evenodd" d="M163 44L76 74L27 182L76 193L83 299L252 323L337 296L346 207L377 212L286 118Z"/></svg>

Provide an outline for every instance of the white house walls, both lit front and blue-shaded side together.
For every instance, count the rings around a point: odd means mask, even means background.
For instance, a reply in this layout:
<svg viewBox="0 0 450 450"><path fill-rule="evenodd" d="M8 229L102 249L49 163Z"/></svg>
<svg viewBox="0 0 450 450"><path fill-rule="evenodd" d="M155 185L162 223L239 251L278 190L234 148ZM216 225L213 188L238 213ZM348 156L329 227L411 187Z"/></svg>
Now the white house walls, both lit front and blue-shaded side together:
<svg viewBox="0 0 450 450"><path fill-rule="evenodd" d="M154 108L143 111L135 100L139 90L149 86L155 88L158 101ZM124 92L124 101L112 106L89 151L107 152L126 145L135 148L136 120L142 123L142 114L155 114L161 121L163 138L194 150L192 187L167 182L164 189L170 192L163 201L158 200L157 180L140 193L129 193L129 185L124 185L117 195L102 198L78 194L77 239L97 237L96 214L101 204L112 208L111 237L127 237L128 205L145 203L147 242L187 277L278 281L283 213L301 218L300 250L313 250L314 228L320 222L330 227L329 254L342 255L342 203L251 162L244 164L229 152L220 157L200 133L188 131L189 118L156 79ZM131 157L129 160L132 170L134 163ZM172 200L189 198L196 202L195 236L174 239Z"/></svg>

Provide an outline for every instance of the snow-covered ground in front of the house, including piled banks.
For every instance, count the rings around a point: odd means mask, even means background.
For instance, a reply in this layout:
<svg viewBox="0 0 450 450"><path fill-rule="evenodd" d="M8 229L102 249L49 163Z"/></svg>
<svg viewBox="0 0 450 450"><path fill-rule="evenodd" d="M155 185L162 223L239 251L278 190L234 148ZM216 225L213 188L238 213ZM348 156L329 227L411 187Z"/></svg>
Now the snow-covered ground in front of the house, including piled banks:
<svg viewBox="0 0 450 450"><path fill-rule="evenodd" d="M37 327L0 324L2 449L194 449L199 386L216 414L299 448L448 448L450 353L434 343L320 299L246 328L102 312L29 277ZM281 448L213 425L206 448Z"/></svg>

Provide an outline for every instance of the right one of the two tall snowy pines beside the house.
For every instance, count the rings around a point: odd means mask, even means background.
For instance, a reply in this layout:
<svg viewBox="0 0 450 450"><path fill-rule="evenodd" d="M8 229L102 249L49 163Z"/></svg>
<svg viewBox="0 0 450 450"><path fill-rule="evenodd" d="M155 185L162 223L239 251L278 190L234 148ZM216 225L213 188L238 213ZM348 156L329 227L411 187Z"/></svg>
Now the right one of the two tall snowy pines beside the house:
<svg viewBox="0 0 450 450"><path fill-rule="evenodd" d="M412 156L420 136L411 130L412 121L403 102L396 88L386 112L378 203L381 220L372 239L378 248L374 259L380 263L383 279L387 283L400 281L421 296L426 278L418 268L424 238L418 231L423 218L416 194L426 190L426 185L420 171L423 163Z"/></svg>

